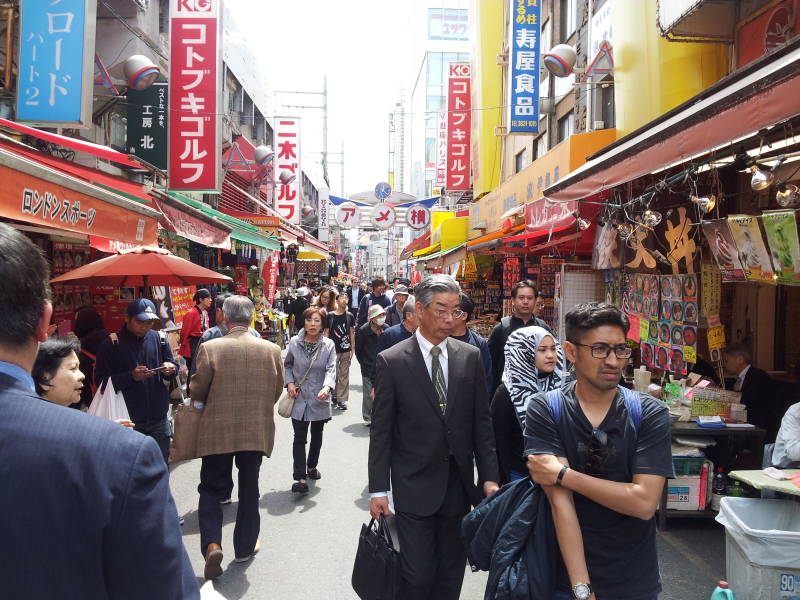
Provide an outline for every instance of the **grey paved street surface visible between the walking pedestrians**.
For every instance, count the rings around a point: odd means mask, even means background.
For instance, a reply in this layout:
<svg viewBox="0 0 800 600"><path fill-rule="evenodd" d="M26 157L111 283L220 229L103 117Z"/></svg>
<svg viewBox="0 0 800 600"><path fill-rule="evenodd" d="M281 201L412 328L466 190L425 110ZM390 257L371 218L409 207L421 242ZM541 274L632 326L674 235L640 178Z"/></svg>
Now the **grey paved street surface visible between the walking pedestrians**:
<svg viewBox="0 0 800 600"><path fill-rule="evenodd" d="M250 563L233 563L234 501L223 507L225 573L213 582L227 600L354 600L350 587L358 533L368 520L366 488L369 430L361 424L361 375L351 371L350 410L335 411L325 426L319 469L311 492L295 497L292 484L292 427L276 416L272 457L261 468L260 554ZM235 468L234 468L235 473ZM195 572L203 573L197 525L200 461L177 465L171 487L186 518L183 539ZM704 600L725 574L724 533L710 521L671 520L659 539L664 593L661 600ZM485 573L467 573L461 597L483 598ZM204 583L200 579L201 585ZM212 585L212 584L206 584ZM206 588L208 589L208 588Z"/></svg>

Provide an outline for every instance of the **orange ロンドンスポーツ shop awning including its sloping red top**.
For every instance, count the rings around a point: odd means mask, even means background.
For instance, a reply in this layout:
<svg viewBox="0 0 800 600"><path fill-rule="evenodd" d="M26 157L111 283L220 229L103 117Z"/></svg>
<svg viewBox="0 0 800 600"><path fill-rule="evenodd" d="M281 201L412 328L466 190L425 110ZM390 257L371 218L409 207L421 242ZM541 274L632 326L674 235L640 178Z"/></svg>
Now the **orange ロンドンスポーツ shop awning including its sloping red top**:
<svg viewBox="0 0 800 600"><path fill-rule="evenodd" d="M140 245L157 243L161 214L0 148L0 216Z"/></svg>

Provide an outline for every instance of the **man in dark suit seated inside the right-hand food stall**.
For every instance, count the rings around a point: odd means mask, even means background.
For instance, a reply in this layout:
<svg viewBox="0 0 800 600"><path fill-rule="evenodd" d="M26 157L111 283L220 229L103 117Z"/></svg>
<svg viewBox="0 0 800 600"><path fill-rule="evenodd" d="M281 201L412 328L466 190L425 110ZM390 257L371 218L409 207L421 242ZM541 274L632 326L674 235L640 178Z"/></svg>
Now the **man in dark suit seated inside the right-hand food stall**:
<svg viewBox="0 0 800 600"><path fill-rule="evenodd" d="M747 421L766 429L765 441L770 443L775 441L783 413L775 402L772 378L763 369L754 367L752 360L744 344L731 344L722 351L725 374L734 379L734 391L742 393L742 404L747 407Z"/></svg>

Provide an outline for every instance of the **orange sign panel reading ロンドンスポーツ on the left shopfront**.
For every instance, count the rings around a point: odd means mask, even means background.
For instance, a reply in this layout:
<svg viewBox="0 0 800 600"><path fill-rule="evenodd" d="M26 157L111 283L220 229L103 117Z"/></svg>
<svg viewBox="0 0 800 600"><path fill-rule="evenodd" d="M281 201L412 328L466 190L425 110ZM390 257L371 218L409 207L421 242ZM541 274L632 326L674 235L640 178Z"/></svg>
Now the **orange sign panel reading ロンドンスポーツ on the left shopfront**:
<svg viewBox="0 0 800 600"><path fill-rule="evenodd" d="M0 181L5 192L0 212L8 219L141 245L156 244L154 218L5 166L0 166Z"/></svg>

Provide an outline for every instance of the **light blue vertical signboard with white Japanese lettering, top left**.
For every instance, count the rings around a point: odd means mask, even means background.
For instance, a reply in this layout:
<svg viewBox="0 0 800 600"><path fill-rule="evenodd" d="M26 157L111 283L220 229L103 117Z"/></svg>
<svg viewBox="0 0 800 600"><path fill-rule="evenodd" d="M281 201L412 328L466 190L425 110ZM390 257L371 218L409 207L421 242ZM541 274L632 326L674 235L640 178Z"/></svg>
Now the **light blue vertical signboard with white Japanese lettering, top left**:
<svg viewBox="0 0 800 600"><path fill-rule="evenodd" d="M90 0L20 2L18 121L91 126L96 12Z"/></svg>

